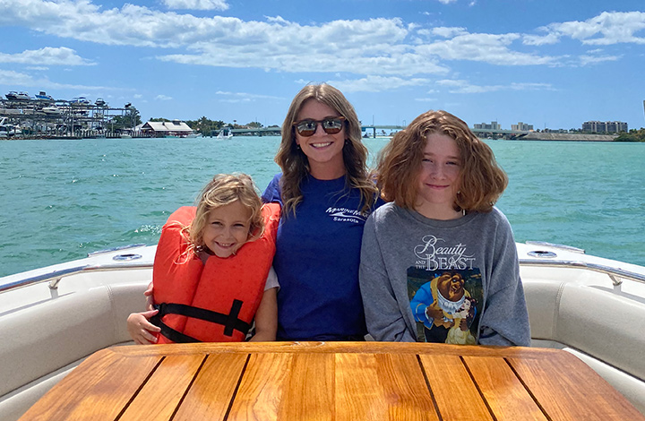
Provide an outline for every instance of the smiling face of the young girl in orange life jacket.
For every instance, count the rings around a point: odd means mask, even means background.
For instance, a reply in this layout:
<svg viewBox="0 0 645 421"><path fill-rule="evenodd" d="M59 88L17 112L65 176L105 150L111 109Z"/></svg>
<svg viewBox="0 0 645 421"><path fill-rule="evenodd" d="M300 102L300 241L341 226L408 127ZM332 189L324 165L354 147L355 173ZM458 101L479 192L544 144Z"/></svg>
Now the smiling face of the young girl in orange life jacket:
<svg viewBox="0 0 645 421"><path fill-rule="evenodd" d="M213 254L226 258L246 243L251 229L251 211L236 201L211 210L202 240Z"/></svg>

